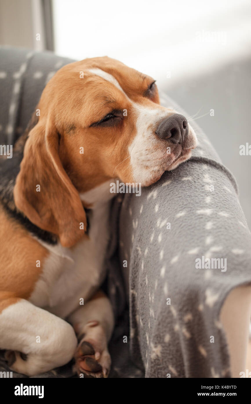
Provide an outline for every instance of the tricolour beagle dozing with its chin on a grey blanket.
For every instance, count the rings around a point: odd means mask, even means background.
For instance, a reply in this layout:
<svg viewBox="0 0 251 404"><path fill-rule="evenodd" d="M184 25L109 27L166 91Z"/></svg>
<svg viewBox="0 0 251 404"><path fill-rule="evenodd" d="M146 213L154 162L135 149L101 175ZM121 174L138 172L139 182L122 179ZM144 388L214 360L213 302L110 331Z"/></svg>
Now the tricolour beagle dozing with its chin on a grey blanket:
<svg viewBox="0 0 251 404"><path fill-rule="evenodd" d="M110 182L148 186L196 145L155 81L114 59L68 64L48 82L12 159L0 160L0 347L11 370L75 358L80 377L108 376Z"/></svg>

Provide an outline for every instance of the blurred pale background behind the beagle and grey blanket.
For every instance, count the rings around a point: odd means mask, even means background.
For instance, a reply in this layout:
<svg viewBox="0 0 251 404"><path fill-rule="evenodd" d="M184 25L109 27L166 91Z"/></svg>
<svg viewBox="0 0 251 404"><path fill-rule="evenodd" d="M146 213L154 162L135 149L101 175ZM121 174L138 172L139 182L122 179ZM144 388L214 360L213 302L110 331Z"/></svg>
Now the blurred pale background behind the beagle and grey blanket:
<svg viewBox="0 0 251 404"><path fill-rule="evenodd" d="M239 184L251 228L251 155L240 155L251 146L250 0L0 0L0 44L108 55L152 76L197 114Z"/></svg>

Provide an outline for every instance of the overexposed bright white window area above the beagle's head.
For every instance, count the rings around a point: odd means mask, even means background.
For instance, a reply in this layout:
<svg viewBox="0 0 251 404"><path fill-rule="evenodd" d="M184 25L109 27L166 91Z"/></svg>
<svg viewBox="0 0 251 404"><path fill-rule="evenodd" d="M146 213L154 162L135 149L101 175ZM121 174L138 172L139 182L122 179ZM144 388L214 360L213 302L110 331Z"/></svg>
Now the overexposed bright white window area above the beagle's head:
<svg viewBox="0 0 251 404"><path fill-rule="evenodd" d="M160 85L204 74L249 53L249 0L54 0L56 53L108 55Z"/></svg>

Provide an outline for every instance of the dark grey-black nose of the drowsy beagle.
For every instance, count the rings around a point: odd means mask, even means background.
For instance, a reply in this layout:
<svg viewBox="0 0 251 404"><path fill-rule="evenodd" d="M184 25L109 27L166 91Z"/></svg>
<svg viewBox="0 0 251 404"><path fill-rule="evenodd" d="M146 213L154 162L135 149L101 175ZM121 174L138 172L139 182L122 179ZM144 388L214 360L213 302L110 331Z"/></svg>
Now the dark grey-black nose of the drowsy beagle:
<svg viewBox="0 0 251 404"><path fill-rule="evenodd" d="M164 119L156 130L160 139L169 139L172 143L182 143L188 135L188 123L185 116L173 114Z"/></svg>

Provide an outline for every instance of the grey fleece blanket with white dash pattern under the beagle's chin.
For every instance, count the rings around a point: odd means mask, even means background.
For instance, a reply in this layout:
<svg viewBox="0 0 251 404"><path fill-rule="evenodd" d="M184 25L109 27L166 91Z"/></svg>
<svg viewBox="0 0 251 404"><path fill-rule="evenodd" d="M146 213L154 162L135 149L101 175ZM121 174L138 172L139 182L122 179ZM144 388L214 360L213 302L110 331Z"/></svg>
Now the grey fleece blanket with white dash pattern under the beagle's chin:
<svg viewBox="0 0 251 404"><path fill-rule="evenodd" d="M0 58L0 144L13 144L46 82L71 61L9 48ZM166 95L161 103L185 114ZM219 313L232 288L251 283L251 235L234 178L191 125L199 139L192 158L140 197L119 195L112 204L104 285L116 315L110 377L230 377ZM71 365L36 377L73 377Z"/></svg>

